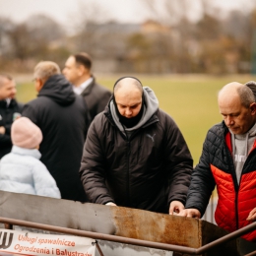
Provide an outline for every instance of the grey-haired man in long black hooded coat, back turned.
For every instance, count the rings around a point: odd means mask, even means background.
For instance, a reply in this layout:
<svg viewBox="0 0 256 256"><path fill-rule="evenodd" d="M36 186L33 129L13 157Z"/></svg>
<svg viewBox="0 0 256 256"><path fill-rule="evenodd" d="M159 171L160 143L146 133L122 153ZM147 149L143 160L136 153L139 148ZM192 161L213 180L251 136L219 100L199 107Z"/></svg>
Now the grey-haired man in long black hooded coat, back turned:
<svg viewBox="0 0 256 256"><path fill-rule="evenodd" d="M74 94L54 62L39 62L33 76L38 96L25 105L23 115L41 129L41 161L56 180L62 199L86 202L79 177L88 125L84 99Z"/></svg>

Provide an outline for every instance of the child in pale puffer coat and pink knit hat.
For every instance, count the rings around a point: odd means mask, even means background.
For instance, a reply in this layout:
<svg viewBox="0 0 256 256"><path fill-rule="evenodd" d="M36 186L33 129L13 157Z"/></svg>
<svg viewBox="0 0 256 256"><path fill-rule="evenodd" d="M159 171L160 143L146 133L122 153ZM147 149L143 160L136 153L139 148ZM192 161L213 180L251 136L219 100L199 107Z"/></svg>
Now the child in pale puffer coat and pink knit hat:
<svg viewBox="0 0 256 256"><path fill-rule="evenodd" d="M11 128L13 148L0 160L0 190L61 198L54 178L39 160L40 129L27 117Z"/></svg>

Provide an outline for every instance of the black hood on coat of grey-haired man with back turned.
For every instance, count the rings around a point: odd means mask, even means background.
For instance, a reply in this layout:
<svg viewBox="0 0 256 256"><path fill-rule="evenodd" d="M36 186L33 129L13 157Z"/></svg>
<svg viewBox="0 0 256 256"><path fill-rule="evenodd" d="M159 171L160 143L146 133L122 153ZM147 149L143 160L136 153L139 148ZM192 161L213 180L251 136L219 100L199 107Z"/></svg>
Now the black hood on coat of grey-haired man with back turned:
<svg viewBox="0 0 256 256"><path fill-rule="evenodd" d="M60 105L69 105L75 100L72 85L63 75L50 77L43 85L38 96L48 96Z"/></svg>

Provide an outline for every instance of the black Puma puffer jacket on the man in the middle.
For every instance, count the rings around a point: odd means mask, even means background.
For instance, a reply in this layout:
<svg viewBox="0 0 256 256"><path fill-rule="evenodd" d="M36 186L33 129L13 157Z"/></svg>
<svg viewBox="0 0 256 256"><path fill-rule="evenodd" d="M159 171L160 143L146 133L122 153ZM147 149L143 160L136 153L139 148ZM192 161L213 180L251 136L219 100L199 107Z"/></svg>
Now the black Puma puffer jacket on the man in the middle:
<svg viewBox="0 0 256 256"><path fill-rule="evenodd" d="M107 106L89 129L80 172L93 203L168 213L171 201L185 203L192 164L169 115L158 109L127 139Z"/></svg>

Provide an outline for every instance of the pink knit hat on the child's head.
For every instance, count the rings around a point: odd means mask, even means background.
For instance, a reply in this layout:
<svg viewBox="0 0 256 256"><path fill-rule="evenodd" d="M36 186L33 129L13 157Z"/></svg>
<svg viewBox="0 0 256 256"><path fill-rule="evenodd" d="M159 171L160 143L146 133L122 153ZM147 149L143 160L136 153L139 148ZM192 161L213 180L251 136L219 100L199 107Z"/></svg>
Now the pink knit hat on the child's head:
<svg viewBox="0 0 256 256"><path fill-rule="evenodd" d="M41 143L41 130L28 117L20 117L13 122L11 128L13 145L34 149Z"/></svg>

